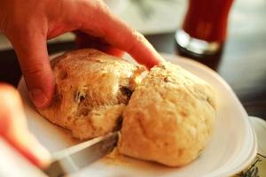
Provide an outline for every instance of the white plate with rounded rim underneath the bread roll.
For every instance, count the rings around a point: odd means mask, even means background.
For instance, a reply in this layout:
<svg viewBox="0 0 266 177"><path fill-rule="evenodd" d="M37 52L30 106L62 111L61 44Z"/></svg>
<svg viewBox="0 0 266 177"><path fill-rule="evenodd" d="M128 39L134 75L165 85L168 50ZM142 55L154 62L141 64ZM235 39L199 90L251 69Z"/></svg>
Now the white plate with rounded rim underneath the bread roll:
<svg viewBox="0 0 266 177"><path fill-rule="evenodd" d="M239 173L251 163L257 149L254 130L229 85L217 73L195 61L172 55L164 57L208 81L216 89L218 103L215 132L202 155L191 164L180 168L168 168L132 158L128 158L125 164L110 164L99 160L74 176L230 176ZM52 125L35 111L27 97L23 80L20 81L19 90L29 129L51 153L77 143L66 130Z"/></svg>

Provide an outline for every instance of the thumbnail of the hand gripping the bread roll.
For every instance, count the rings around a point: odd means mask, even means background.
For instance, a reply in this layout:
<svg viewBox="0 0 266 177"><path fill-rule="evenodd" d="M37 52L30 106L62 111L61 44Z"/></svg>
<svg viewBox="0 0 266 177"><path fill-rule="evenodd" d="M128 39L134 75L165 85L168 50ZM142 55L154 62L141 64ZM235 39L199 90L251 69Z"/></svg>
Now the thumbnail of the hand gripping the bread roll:
<svg viewBox="0 0 266 177"><path fill-rule="evenodd" d="M43 105L48 102L48 98L45 96L42 89L30 90L29 96L36 107L43 107Z"/></svg>

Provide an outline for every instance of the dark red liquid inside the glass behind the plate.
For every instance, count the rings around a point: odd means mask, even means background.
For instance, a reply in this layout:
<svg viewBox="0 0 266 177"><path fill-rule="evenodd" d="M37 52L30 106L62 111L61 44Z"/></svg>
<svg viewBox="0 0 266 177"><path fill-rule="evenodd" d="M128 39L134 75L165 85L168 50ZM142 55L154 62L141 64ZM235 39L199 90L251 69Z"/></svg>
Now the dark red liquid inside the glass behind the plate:
<svg viewBox="0 0 266 177"><path fill-rule="evenodd" d="M233 0L189 0L183 29L194 38L223 42Z"/></svg>

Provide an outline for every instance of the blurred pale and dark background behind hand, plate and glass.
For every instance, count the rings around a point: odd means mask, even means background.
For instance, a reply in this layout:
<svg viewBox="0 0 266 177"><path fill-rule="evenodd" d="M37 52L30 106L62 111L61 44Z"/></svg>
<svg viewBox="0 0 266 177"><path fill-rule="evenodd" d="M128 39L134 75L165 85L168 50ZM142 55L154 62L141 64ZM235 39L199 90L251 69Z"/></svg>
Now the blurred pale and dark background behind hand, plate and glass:
<svg viewBox="0 0 266 177"><path fill-rule="evenodd" d="M143 33L156 50L193 58L176 47L187 0L106 0L112 11ZM266 1L235 0L228 19L223 51L212 58L194 58L212 67L236 92L249 115L266 118ZM49 52L74 49L74 35L50 40ZM20 67L10 42L0 35L0 81L14 86Z"/></svg>

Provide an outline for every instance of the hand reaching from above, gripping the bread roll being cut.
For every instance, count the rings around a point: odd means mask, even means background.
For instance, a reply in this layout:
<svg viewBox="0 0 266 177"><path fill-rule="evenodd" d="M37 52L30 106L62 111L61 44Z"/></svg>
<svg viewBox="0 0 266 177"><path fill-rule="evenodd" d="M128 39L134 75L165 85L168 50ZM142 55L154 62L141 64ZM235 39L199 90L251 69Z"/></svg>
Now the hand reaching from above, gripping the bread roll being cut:
<svg viewBox="0 0 266 177"><path fill-rule="evenodd" d="M163 60L143 35L101 0L0 0L0 4L0 31L12 42L36 107L48 106L54 91L46 40L68 31L97 36L148 68Z"/></svg>

